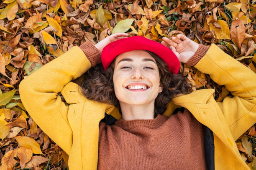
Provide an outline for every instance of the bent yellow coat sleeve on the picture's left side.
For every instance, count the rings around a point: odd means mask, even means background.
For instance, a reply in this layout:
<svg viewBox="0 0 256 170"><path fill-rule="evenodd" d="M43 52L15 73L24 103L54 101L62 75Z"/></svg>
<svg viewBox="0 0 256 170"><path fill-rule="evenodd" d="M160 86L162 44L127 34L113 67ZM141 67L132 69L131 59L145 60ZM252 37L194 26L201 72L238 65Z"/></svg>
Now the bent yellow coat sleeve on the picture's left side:
<svg viewBox="0 0 256 170"><path fill-rule="evenodd" d="M72 147L72 130L67 119L69 105L61 101L58 92L90 67L84 52L77 46L72 47L19 85L20 99L29 115L68 155Z"/></svg>

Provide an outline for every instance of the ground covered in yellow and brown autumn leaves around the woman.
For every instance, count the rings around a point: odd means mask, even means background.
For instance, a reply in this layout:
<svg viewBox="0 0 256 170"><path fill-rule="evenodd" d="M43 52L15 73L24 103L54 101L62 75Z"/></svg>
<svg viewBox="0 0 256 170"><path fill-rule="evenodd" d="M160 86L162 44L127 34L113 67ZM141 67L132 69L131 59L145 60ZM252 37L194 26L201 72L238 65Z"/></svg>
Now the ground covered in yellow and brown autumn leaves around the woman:
<svg viewBox="0 0 256 170"><path fill-rule="evenodd" d="M256 0L2 0L0 2L0 170L66 170L68 156L26 112L19 96L24 77L85 41L115 32L161 42L182 33L217 44L256 72ZM214 88L232 96L209 75L181 64L193 90ZM239 70L238 70L239 71ZM256 170L256 130L237 141Z"/></svg>

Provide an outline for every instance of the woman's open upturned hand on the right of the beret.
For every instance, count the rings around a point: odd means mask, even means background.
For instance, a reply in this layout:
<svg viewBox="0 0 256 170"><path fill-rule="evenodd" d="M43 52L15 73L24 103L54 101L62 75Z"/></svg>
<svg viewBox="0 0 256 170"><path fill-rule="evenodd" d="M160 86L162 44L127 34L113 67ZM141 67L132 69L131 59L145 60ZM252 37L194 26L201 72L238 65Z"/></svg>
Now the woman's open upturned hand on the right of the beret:
<svg viewBox="0 0 256 170"><path fill-rule="evenodd" d="M199 44L182 34L177 35L177 37L172 37L172 40L163 37L161 44L170 48L178 57L179 61L184 63L195 54L199 47Z"/></svg>

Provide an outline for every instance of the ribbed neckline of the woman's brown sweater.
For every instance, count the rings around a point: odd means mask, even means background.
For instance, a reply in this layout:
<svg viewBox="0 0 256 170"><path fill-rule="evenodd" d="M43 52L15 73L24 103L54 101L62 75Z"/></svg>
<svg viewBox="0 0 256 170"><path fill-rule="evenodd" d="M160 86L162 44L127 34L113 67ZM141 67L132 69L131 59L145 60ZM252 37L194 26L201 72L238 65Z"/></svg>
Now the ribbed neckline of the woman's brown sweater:
<svg viewBox="0 0 256 170"><path fill-rule="evenodd" d="M167 119L168 117L160 114L158 114L154 119L123 120L120 118L119 120L115 121L115 125L122 129L134 128L137 125L147 126L148 128L156 128L162 125Z"/></svg>

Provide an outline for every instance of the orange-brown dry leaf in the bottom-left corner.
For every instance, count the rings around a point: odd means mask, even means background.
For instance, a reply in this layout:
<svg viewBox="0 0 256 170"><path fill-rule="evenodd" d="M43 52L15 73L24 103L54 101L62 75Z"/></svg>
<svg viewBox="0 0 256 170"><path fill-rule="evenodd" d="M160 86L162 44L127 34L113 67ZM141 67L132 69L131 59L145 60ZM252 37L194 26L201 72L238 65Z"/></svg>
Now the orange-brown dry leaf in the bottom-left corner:
<svg viewBox="0 0 256 170"><path fill-rule="evenodd" d="M17 152L18 148L15 148L14 150L11 150L4 155L4 157L1 160L3 170L13 169L14 165L17 163L17 160L14 159L14 157L17 157Z"/></svg>

